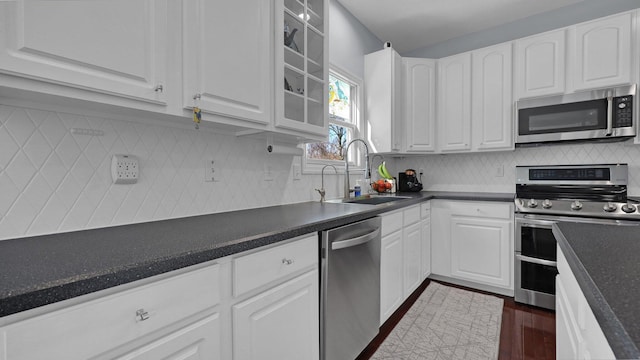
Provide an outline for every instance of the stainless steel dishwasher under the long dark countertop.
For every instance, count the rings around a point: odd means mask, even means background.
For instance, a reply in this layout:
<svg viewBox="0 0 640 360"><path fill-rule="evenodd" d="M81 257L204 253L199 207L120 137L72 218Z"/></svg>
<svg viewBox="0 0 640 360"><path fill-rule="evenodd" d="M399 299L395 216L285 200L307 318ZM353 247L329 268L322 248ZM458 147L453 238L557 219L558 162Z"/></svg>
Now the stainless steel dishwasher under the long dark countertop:
<svg viewBox="0 0 640 360"><path fill-rule="evenodd" d="M353 360L380 326L380 217L320 233L320 358Z"/></svg>

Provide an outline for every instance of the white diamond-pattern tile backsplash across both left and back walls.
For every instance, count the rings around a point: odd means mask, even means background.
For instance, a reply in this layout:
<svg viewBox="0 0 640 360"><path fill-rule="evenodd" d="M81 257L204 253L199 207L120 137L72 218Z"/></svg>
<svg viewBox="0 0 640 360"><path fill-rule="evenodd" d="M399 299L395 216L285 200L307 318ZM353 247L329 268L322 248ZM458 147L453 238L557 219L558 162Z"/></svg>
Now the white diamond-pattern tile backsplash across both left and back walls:
<svg viewBox="0 0 640 360"><path fill-rule="evenodd" d="M319 199L320 176L294 180L299 157L268 155L266 140L71 112L0 105L0 240ZM137 184L113 184L114 154L139 159ZM215 182L204 181L210 160ZM625 162L629 194L640 195L630 142L387 160L394 173L424 168L426 190L489 192L514 192L516 165ZM327 197L340 196L343 176L327 174Z"/></svg>

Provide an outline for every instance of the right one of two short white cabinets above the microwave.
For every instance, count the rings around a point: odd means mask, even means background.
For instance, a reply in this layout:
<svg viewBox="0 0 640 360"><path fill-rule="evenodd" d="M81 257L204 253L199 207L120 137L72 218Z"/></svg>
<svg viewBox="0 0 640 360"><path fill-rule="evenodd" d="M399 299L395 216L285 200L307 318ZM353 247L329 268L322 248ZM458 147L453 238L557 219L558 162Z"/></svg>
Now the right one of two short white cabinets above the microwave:
<svg viewBox="0 0 640 360"><path fill-rule="evenodd" d="M631 82L632 21L624 13L575 27L575 90Z"/></svg>

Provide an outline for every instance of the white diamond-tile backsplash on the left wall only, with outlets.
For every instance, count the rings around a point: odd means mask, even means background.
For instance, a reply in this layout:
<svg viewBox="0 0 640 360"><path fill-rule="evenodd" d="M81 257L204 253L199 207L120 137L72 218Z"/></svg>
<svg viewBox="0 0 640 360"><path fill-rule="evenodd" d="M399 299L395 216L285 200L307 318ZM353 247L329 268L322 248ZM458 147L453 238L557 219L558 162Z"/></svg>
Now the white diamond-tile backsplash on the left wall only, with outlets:
<svg viewBox="0 0 640 360"><path fill-rule="evenodd" d="M139 159L137 184L113 184L113 154ZM319 177L293 180L293 161L266 140L0 105L0 239L315 200Z"/></svg>

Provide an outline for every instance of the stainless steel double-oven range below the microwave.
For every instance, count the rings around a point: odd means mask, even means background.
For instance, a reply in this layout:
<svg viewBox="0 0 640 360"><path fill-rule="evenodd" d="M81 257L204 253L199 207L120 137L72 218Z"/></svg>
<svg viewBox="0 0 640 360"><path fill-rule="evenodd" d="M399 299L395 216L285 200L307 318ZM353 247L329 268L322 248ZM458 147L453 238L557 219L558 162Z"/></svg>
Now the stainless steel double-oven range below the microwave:
<svg viewBox="0 0 640 360"><path fill-rule="evenodd" d="M640 224L627 179L627 164L516 167L516 301L555 308L554 222Z"/></svg>

